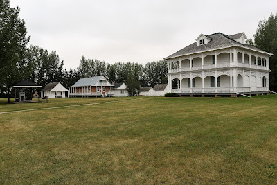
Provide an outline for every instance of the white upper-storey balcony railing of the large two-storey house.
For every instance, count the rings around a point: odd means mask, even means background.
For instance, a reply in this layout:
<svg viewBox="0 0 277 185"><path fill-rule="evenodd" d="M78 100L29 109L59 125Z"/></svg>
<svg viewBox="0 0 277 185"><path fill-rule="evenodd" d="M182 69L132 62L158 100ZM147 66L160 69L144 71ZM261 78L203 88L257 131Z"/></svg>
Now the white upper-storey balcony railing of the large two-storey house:
<svg viewBox="0 0 277 185"><path fill-rule="evenodd" d="M181 71L197 71L202 69L215 69L215 68L225 68L225 67L244 67L244 68L250 68L250 69L269 70L269 67L258 66L255 64L246 64L241 62L223 62L223 63L217 63L217 64L208 64L203 66L168 69L168 73L178 73Z"/></svg>

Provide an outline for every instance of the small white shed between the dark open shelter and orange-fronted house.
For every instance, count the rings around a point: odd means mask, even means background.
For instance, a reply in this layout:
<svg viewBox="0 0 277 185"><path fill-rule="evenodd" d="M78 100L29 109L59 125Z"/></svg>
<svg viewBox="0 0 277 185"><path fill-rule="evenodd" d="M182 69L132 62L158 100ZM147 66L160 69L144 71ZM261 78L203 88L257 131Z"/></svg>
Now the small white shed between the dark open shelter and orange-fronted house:
<svg viewBox="0 0 277 185"><path fill-rule="evenodd" d="M59 82L54 82L46 85L42 91L40 91L42 97L48 96L48 98L68 98L69 90L65 89Z"/></svg>

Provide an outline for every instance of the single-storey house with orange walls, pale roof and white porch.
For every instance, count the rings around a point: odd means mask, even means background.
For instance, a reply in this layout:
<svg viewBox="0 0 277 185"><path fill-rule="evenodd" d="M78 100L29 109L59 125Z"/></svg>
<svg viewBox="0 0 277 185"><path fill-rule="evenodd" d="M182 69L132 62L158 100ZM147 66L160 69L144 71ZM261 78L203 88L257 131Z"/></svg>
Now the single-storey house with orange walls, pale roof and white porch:
<svg viewBox="0 0 277 185"><path fill-rule="evenodd" d="M69 87L71 97L109 97L114 96L114 85L104 76L80 78L74 85Z"/></svg>

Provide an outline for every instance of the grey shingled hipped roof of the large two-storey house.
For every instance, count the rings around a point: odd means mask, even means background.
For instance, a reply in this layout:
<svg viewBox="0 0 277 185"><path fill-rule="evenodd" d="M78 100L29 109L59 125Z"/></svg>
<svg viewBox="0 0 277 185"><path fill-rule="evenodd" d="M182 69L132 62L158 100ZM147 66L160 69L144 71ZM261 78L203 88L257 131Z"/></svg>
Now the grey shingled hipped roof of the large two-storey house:
<svg viewBox="0 0 277 185"><path fill-rule="evenodd" d="M235 34L235 36L232 37L238 37L238 35L243 34L243 33L238 33ZM207 37L211 37L211 42L208 42L207 44L204 45L199 45L197 46L197 42L194 42L193 44L190 44L186 46L184 49L181 49L177 51L176 53L173 53L172 55L169 55L165 59L170 59L170 58L175 58L178 56L182 55L190 55L192 53L201 53L204 51L210 51L210 50L215 50L215 49L222 49L222 48L227 48L231 46L242 46L247 49L255 50L258 52L266 53L268 55L272 55L271 53L267 53L265 51L262 51L254 46L250 46L248 44L241 44L240 42L236 42L234 39L229 37L228 35L225 35L223 33L213 33L211 35L207 35Z"/></svg>

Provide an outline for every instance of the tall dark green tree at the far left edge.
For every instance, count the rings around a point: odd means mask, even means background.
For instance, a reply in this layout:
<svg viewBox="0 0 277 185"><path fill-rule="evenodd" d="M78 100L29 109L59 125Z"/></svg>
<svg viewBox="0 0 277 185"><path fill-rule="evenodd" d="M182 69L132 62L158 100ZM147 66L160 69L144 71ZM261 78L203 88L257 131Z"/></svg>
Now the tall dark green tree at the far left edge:
<svg viewBox="0 0 277 185"><path fill-rule="evenodd" d="M10 7L9 0L0 0L0 89L24 78L24 60L30 36L24 20L19 18L19 7Z"/></svg>

